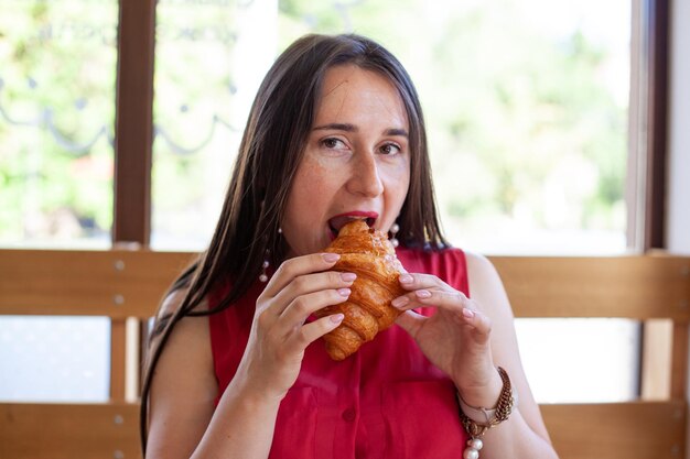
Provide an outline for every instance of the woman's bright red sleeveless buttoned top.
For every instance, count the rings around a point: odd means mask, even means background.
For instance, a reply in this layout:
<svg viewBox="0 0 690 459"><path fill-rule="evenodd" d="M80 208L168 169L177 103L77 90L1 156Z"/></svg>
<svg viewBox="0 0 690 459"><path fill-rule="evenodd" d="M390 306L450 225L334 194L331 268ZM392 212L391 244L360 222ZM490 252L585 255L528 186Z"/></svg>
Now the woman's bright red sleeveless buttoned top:
<svg viewBox="0 0 690 459"><path fill-rule="evenodd" d="M468 295L462 251L397 252L408 272L434 274ZM239 302L209 317L219 394L235 375L265 285L257 281ZM227 291L219 289L209 306ZM280 404L269 458L457 459L466 440L452 381L393 325L341 362L331 360L322 340L306 348L300 375Z"/></svg>

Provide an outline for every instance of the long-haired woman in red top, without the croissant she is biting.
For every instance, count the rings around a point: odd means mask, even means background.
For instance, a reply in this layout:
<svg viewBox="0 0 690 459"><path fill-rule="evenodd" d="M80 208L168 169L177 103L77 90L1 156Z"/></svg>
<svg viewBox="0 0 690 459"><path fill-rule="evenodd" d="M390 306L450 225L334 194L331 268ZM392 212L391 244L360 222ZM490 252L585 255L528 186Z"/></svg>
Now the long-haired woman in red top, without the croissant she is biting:
<svg viewBox="0 0 690 459"><path fill-rule="evenodd" d="M323 249L354 218L400 229L408 293L334 362L343 316L312 315L351 294ZM417 92L377 43L309 35L269 70L209 248L158 315L142 431L147 458L557 457L502 283L443 239Z"/></svg>

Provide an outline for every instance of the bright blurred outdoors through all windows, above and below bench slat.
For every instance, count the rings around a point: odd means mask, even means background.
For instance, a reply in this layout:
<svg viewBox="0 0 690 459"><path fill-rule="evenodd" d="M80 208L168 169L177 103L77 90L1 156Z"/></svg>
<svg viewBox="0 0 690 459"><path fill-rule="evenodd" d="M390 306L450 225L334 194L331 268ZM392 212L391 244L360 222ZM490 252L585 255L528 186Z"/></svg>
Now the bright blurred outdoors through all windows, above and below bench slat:
<svg viewBox="0 0 690 459"><path fill-rule="evenodd" d="M159 0L147 242L204 249L273 58L304 33L355 32L391 50L417 85L455 245L640 253L643 6ZM119 18L117 0L0 0L0 245L112 245ZM99 317L0 317L0 400L108 400L109 327ZM539 402L639 396L639 323L517 328Z"/></svg>

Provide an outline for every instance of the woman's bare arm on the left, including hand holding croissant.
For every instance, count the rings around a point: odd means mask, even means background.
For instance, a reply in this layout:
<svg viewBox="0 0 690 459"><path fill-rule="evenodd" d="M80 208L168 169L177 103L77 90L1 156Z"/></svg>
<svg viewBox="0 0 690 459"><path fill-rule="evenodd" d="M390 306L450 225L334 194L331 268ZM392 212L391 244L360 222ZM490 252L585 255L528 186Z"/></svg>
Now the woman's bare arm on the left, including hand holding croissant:
<svg viewBox="0 0 690 459"><path fill-rule="evenodd" d="M280 402L298 378L304 349L343 319L305 324L349 295L352 280L327 271L336 259L304 255L279 267L257 299L245 353L217 407L208 318L184 317L175 325L153 373L148 459L268 457ZM164 309L174 310L182 299L182 293L171 295Z"/></svg>

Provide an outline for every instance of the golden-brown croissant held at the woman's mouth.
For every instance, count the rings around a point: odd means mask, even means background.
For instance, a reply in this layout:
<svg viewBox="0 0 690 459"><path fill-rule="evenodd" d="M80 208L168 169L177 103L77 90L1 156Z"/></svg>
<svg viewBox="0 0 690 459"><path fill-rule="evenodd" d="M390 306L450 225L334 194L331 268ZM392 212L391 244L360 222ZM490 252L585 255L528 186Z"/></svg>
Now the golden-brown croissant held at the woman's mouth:
<svg viewBox="0 0 690 459"><path fill-rule="evenodd" d="M364 220L345 225L325 251L341 254L333 270L357 274L345 303L315 313L316 317L345 315L343 323L324 336L328 356L343 360L390 327L400 315L390 302L406 293L398 281L405 270L386 234L369 228Z"/></svg>

